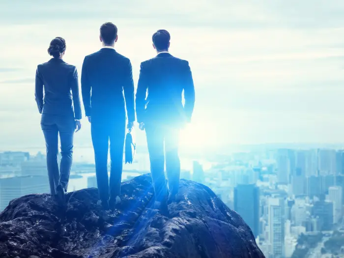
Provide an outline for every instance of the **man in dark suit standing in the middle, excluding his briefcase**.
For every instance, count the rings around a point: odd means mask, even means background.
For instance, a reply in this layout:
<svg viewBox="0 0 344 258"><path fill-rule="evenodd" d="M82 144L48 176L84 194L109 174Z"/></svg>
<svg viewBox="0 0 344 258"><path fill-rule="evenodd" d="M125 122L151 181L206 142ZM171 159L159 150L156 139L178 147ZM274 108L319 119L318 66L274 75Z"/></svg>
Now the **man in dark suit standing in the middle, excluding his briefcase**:
<svg viewBox="0 0 344 258"><path fill-rule="evenodd" d="M135 121L134 83L131 62L115 51L117 27L100 27L103 48L85 57L81 89L86 116L91 123L95 169L99 191L98 204L113 208L120 200L126 112L128 128ZM124 90L124 96L123 96ZM110 185L108 150L110 140ZM109 199L110 197L110 199Z"/></svg>

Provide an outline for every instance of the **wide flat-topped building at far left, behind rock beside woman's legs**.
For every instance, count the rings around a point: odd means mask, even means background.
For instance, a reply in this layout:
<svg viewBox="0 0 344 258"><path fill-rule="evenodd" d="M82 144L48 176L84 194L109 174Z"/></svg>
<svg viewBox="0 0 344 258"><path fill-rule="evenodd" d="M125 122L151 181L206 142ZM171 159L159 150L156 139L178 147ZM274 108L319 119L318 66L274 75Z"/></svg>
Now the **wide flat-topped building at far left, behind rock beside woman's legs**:
<svg viewBox="0 0 344 258"><path fill-rule="evenodd" d="M0 211L13 199L43 193L50 193L47 175L0 178Z"/></svg>

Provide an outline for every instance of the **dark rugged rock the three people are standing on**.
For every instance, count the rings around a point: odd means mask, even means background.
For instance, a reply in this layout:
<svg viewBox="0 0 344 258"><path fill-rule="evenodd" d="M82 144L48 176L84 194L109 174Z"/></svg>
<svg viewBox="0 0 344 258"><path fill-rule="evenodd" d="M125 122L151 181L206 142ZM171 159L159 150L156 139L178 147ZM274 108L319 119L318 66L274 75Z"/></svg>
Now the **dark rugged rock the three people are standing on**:
<svg viewBox="0 0 344 258"><path fill-rule="evenodd" d="M153 210L149 174L122 183L122 206L96 205L95 188L10 202L0 214L1 258L263 258L251 229L206 186L181 180L171 216Z"/></svg>

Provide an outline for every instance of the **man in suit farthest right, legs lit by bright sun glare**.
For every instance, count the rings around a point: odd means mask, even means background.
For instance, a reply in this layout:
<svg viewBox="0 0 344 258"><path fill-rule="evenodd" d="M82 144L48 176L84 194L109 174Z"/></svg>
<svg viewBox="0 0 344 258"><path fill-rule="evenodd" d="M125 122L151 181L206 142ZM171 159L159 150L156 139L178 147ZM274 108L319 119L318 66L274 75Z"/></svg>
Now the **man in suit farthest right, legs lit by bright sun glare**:
<svg viewBox="0 0 344 258"><path fill-rule="evenodd" d="M170 38L170 33L164 29L153 34L153 47L158 55L141 63L136 93L137 120L140 129L146 131L155 206L165 211L168 199L172 201L179 188L179 130L191 121L195 106L189 63L169 53ZM170 191L164 174L165 159Z"/></svg>

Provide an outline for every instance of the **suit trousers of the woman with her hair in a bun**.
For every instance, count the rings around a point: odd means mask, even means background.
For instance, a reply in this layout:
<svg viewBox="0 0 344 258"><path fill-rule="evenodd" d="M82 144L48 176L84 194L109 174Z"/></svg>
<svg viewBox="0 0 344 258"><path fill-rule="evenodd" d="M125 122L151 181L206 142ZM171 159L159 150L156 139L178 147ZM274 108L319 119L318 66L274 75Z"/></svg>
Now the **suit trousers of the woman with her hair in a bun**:
<svg viewBox="0 0 344 258"><path fill-rule="evenodd" d="M61 185L67 192L70 170L73 162L73 137L75 119L73 115L43 114L41 128L47 148L47 169L50 192L56 194L57 185ZM61 161L58 170L58 135L61 144Z"/></svg>

